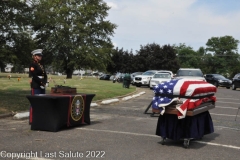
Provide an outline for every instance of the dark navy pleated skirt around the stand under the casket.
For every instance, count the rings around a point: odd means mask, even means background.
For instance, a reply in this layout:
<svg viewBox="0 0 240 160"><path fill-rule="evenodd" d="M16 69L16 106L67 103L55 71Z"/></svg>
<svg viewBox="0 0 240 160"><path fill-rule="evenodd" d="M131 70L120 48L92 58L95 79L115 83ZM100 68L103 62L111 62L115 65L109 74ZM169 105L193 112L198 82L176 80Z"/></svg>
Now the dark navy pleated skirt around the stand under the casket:
<svg viewBox="0 0 240 160"><path fill-rule="evenodd" d="M172 140L200 139L213 132L213 122L209 111L195 116L186 116L183 119L178 119L174 114L160 115L156 129L156 135Z"/></svg>

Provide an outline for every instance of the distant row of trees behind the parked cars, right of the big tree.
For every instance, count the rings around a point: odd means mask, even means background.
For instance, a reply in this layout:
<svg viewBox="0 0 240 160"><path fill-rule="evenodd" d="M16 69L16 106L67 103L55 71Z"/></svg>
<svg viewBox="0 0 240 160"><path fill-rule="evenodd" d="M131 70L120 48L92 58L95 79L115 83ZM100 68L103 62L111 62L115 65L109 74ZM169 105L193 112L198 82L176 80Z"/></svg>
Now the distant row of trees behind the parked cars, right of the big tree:
<svg viewBox="0 0 240 160"><path fill-rule="evenodd" d="M179 68L200 68L204 74L218 73L230 78L240 73L238 43L239 40L232 36L223 36L208 39L207 47L197 51L184 43L172 46L147 44L135 54L117 48L107 70L132 73L156 69L175 73Z"/></svg>

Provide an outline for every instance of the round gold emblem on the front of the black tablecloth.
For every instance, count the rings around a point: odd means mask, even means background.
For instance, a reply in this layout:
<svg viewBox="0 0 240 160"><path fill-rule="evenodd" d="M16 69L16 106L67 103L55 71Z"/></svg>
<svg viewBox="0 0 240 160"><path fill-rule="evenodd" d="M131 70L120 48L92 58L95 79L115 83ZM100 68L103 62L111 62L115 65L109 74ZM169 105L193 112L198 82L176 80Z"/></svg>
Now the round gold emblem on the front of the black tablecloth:
<svg viewBox="0 0 240 160"><path fill-rule="evenodd" d="M79 121L84 113L83 97L78 95L73 98L71 104L71 117L74 121Z"/></svg>

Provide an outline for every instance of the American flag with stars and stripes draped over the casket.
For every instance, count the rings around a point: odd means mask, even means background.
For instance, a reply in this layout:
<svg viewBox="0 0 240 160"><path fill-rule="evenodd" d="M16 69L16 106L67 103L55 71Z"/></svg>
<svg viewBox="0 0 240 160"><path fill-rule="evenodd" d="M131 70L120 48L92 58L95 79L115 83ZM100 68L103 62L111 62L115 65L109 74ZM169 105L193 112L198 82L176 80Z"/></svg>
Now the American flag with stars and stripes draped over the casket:
<svg viewBox="0 0 240 160"><path fill-rule="evenodd" d="M152 108L159 109L164 114L165 107L173 101L180 100L183 103L178 105L178 118L185 118L189 109L194 109L202 102L216 101L214 94L217 88L207 82L200 80L173 79L154 87L155 96L152 101Z"/></svg>

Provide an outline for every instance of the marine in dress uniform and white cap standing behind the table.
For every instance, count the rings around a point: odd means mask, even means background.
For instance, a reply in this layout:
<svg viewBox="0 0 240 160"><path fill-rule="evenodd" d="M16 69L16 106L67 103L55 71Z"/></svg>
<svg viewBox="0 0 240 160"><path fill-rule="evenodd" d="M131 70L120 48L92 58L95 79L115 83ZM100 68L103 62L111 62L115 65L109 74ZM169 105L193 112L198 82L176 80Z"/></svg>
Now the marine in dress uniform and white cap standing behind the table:
<svg viewBox="0 0 240 160"><path fill-rule="evenodd" d="M33 62L29 67L29 76L31 80L31 95L45 94L45 86L47 83L47 74L42 63L42 49L36 49L31 52ZM29 124L32 123L32 107L30 107Z"/></svg>

